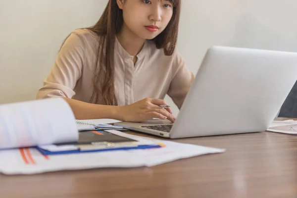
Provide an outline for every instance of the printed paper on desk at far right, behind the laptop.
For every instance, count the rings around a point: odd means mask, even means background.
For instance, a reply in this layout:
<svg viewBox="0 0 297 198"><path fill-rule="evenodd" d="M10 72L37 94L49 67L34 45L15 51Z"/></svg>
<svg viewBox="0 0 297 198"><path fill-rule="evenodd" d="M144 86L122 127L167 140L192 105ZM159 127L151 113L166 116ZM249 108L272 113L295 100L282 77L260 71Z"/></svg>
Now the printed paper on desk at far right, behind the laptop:
<svg viewBox="0 0 297 198"><path fill-rule="evenodd" d="M284 120L284 121L273 121L267 131L286 133L286 134L297 134L297 121L296 120Z"/></svg>

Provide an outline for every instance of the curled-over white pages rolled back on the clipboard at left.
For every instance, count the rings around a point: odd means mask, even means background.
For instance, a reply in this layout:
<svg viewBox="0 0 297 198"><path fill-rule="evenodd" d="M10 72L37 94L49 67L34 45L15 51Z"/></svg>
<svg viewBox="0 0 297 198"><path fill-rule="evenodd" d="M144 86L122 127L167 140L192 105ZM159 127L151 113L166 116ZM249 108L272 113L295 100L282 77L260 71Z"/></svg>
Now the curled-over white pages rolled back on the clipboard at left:
<svg viewBox="0 0 297 198"><path fill-rule="evenodd" d="M77 140L75 118L64 99L41 99L0 105L0 149Z"/></svg>

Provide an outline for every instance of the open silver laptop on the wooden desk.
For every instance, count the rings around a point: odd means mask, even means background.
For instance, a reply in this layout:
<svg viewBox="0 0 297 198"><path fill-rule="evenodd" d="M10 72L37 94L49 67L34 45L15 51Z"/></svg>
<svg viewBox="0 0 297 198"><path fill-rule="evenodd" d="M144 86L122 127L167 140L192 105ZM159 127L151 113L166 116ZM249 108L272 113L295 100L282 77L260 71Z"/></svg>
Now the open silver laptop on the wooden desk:
<svg viewBox="0 0 297 198"><path fill-rule="evenodd" d="M207 50L175 123L115 125L164 138L265 131L297 80L297 53L215 46Z"/></svg>

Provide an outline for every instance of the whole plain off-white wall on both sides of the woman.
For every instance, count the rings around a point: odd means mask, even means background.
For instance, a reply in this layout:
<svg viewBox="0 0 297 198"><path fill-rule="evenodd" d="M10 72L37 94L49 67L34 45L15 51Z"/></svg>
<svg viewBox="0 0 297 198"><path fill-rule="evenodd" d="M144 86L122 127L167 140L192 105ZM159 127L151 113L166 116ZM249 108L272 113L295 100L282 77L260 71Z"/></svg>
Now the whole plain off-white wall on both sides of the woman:
<svg viewBox="0 0 297 198"><path fill-rule="evenodd" d="M64 38L94 24L107 1L0 0L0 103L35 99ZM296 7L296 0L183 0L179 50L194 73L212 45L297 51Z"/></svg>

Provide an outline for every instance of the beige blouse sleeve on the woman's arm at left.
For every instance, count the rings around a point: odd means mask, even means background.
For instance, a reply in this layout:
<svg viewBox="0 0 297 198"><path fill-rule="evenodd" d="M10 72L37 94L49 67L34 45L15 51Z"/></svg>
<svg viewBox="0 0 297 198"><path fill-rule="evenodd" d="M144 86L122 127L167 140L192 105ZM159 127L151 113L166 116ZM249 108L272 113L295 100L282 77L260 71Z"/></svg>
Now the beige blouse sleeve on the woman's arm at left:
<svg viewBox="0 0 297 198"><path fill-rule="evenodd" d="M76 82L82 75L84 65L84 42L76 31L72 32L60 49L37 99L51 97L72 98Z"/></svg>

